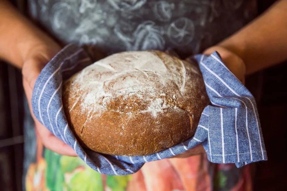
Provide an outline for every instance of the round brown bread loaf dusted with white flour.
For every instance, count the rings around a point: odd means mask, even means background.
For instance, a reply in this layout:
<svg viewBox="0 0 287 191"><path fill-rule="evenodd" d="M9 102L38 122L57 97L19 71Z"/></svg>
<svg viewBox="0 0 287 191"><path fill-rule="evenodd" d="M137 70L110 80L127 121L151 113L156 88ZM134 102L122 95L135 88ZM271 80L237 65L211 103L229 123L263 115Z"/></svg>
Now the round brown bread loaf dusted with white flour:
<svg viewBox="0 0 287 191"><path fill-rule="evenodd" d="M80 144L121 156L153 154L192 137L208 103L198 66L161 51L113 54L63 87Z"/></svg>

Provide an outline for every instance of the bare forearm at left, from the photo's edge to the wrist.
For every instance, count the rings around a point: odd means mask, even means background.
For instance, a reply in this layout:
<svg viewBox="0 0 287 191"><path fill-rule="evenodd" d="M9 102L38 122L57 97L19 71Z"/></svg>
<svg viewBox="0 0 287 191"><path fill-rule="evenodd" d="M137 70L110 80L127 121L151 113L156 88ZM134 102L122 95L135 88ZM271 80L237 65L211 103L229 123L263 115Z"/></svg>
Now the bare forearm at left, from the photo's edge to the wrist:
<svg viewBox="0 0 287 191"><path fill-rule="evenodd" d="M0 59L22 68L31 50L43 43L55 42L8 1L0 1Z"/></svg>

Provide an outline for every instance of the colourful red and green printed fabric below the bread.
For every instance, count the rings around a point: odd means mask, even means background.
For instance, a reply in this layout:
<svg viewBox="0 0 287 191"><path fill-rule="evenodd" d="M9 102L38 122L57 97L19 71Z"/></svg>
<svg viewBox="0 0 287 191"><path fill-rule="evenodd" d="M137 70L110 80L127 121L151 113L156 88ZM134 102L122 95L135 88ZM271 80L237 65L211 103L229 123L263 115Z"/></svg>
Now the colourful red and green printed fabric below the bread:
<svg viewBox="0 0 287 191"><path fill-rule="evenodd" d="M250 169L212 164L205 155L146 163L133 175L102 175L80 158L58 155L37 142L37 159L25 177L27 191L252 190ZM40 154L43 153L43 154Z"/></svg>

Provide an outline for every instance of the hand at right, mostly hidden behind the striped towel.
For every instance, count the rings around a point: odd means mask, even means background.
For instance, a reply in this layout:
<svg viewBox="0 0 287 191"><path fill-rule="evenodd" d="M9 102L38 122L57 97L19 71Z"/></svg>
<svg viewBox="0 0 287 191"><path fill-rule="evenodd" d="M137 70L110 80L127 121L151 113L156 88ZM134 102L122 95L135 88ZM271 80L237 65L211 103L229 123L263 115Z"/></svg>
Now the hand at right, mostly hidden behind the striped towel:
<svg viewBox="0 0 287 191"><path fill-rule="evenodd" d="M226 65L227 68L241 81L241 83L245 84L245 75L246 75L246 67L243 62L243 60L231 52L230 50L221 47L221 46L213 46L208 49L206 49L203 54L209 56L214 51L217 51L223 63ZM182 154L178 154L176 156L173 156L171 158L185 158L197 154L203 154L205 153L205 150L202 146L202 144L197 145L196 147L187 150L186 152L183 152Z"/></svg>

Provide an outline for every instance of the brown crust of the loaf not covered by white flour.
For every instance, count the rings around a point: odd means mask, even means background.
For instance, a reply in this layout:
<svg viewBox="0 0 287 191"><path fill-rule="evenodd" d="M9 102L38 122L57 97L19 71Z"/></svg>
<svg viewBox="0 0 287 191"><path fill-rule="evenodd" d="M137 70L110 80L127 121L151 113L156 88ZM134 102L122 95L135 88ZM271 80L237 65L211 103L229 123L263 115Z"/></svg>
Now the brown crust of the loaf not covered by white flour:
<svg viewBox="0 0 287 191"><path fill-rule="evenodd" d="M193 63L171 58L160 51L149 52L158 56L167 68L176 64L179 66L175 67L177 71L171 73L175 75L175 79L176 72L182 75L180 66L184 65L184 78L181 76L180 82L169 81L164 87L160 82L156 82L162 76L150 72L148 76L156 79L151 82L152 88L157 92L155 95L143 93L143 96L139 97L132 92L115 96L111 91L112 96L102 96L97 107L92 109L83 108L85 100L82 96L88 92L87 89L82 89L83 84L77 81L80 73L65 83L65 114L71 129L83 146L105 154L141 156L170 148L194 135L201 112L209 102L199 69ZM141 72L126 73L108 81L107 86L115 87L118 81L129 77L135 77L137 81L150 79L139 77L140 74ZM141 92L146 91L151 90L141 89ZM108 101L104 101L105 99ZM159 104L160 108L156 106L156 110L152 110L153 104Z"/></svg>

